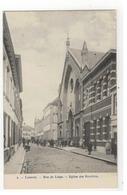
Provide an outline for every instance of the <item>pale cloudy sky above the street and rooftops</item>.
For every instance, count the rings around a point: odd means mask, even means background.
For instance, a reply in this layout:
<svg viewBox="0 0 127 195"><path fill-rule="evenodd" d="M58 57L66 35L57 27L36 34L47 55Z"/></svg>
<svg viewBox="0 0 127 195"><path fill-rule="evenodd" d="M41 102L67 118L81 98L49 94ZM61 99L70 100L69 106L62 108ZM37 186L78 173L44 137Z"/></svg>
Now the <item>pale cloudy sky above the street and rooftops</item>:
<svg viewBox="0 0 127 195"><path fill-rule="evenodd" d="M116 48L115 11L7 12L16 54L21 55L23 118L34 126L44 107L58 96L66 54L70 47L106 52Z"/></svg>

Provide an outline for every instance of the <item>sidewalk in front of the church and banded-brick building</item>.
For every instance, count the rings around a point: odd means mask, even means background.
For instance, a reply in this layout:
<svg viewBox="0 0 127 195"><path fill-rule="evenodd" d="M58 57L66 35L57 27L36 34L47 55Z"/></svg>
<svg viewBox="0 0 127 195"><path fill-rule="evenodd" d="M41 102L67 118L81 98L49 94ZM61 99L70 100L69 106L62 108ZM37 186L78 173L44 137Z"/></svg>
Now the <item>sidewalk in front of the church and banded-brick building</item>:
<svg viewBox="0 0 127 195"><path fill-rule="evenodd" d="M112 154L104 154L104 153L101 153L101 152L98 152L98 151L92 151L91 152L91 155L88 155L88 150L87 149L82 149L82 148L77 148L77 147L57 147L58 149L61 149L61 150L65 150L65 151L68 151L68 152L72 152L72 153L75 153L75 154L79 154L79 155L83 155L83 156L87 156L87 157L90 157L90 158L94 158L94 159L98 159L98 160L102 160L102 161L105 161L105 162L108 162L108 163L112 163L112 164L117 164L117 160L114 159L114 155Z"/></svg>

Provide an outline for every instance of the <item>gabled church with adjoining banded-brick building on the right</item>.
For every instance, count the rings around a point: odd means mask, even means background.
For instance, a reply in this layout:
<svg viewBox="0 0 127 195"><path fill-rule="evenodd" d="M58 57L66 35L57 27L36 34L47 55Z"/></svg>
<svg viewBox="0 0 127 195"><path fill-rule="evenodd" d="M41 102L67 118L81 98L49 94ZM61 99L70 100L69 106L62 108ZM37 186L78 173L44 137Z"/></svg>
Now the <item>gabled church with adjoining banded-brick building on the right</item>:
<svg viewBox="0 0 127 195"><path fill-rule="evenodd" d="M117 101L116 50L89 51L86 42L81 50L73 49L69 39L66 46L58 139L84 147L92 142L95 149L104 152L106 143L117 134L116 114L112 113L113 101L115 105Z"/></svg>

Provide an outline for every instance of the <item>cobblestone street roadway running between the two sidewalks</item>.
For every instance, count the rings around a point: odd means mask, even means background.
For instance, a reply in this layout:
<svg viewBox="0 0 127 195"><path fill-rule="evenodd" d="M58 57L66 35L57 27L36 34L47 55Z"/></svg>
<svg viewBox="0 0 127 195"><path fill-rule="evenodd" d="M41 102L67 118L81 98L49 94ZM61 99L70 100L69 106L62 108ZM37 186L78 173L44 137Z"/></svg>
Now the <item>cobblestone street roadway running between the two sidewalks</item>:
<svg viewBox="0 0 127 195"><path fill-rule="evenodd" d="M117 166L56 148L32 144L22 173L116 172Z"/></svg>

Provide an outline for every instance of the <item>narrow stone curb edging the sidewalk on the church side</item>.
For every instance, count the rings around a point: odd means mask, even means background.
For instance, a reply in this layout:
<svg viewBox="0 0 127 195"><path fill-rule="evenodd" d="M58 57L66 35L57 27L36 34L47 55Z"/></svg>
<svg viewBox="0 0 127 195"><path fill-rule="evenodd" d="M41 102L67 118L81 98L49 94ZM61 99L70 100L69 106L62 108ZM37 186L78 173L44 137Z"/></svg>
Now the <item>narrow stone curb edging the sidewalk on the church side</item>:
<svg viewBox="0 0 127 195"><path fill-rule="evenodd" d="M100 158L100 157L97 157L97 156L93 156L93 155L88 155L88 154L81 154L81 153L78 153L78 152L74 152L74 151L67 151L63 148L57 148L55 147L56 149L59 149L59 150L64 150L66 152L71 152L71 153L74 153L74 154L78 154L78 155L81 155L81 156L86 156L86 157L90 157L90 158L93 158L93 159L97 159L97 160L101 160L101 161L104 161L104 162L107 162L107 163L110 163L110 164L114 164L114 165L117 165L117 162L114 162L114 161L111 161L111 160L108 160L108 159L105 159L105 158Z"/></svg>

